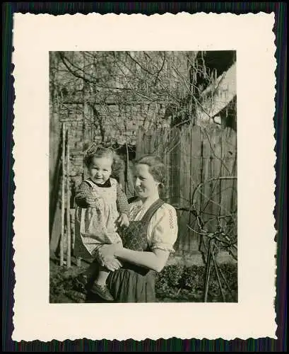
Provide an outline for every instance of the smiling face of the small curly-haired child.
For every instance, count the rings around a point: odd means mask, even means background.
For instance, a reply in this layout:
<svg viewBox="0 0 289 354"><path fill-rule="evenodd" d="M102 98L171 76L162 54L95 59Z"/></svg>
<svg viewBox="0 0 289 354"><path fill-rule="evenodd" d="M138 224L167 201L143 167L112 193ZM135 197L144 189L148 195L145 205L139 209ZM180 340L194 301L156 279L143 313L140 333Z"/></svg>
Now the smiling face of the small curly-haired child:
<svg viewBox="0 0 289 354"><path fill-rule="evenodd" d="M108 157L93 157L88 173L93 182L105 183L112 173L112 159Z"/></svg>

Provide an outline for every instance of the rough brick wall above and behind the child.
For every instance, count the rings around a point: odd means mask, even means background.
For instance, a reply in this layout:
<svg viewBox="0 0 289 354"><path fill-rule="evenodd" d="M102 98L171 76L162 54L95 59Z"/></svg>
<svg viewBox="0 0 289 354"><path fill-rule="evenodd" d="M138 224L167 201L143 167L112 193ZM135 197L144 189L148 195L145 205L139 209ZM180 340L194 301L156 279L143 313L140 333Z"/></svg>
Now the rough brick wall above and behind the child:
<svg viewBox="0 0 289 354"><path fill-rule="evenodd" d="M102 140L99 124L102 125L105 143L114 146L117 144L120 147L127 143L133 148L136 145L136 133L139 127L155 127L157 129L164 125L170 126L170 119L164 118L165 110L162 105L139 103L122 106L121 108L118 105L110 105L109 112L102 107L98 110L98 113L97 120L95 119L95 112L88 105L83 104L81 107L80 104L75 105L74 103L62 104L58 110L58 120L59 122L65 122L68 131L71 207L73 207L75 191L81 181L87 177L83 164L84 149L90 143L101 142ZM59 124L58 129L61 136L61 124ZM123 150L124 154L121 157L125 160L125 149ZM124 184L124 176L121 178ZM61 206L60 186L59 206Z"/></svg>

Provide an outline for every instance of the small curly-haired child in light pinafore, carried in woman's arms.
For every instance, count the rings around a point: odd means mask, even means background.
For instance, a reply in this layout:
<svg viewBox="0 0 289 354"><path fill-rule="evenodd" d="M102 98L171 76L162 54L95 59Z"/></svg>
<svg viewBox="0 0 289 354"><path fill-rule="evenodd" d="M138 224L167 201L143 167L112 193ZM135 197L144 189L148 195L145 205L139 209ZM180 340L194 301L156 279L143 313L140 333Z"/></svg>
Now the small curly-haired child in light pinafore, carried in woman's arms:
<svg viewBox="0 0 289 354"><path fill-rule="evenodd" d="M93 144L84 162L89 178L81 183L75 198L74 255L97 261L100 246L122 242L117 227L129 226L129 204L121 186L111 177L120 166L120 159L112 149ZM107 301L113 301L106 285L109 273L107 268L99 266L92 291Z"/></svg>

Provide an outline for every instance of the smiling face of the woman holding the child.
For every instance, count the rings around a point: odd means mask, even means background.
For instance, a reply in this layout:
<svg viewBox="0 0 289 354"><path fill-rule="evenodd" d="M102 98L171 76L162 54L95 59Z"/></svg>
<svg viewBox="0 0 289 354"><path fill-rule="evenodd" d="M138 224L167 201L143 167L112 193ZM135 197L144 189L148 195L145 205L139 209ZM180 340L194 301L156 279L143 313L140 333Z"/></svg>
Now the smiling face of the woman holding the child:
<svg viewBox="0 0 289 354"><path fill-rule="evenodd" d="M137 164L134 167L134 188L140 198L148 198L158 194L158 185L149 171L148 165Z"/></svg>

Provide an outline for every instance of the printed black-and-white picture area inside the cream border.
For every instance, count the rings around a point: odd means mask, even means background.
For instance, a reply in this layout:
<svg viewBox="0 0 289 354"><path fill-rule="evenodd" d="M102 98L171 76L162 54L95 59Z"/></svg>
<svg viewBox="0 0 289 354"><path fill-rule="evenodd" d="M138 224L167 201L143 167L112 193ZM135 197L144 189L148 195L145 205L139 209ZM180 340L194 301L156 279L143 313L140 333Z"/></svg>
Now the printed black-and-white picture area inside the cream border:
<svg viewBox="0 0 289 354"><path fill-rule="evenodd" d="M237 55L49 52L49 302L238 302Z"/></svg>

